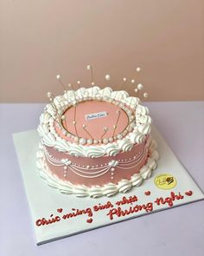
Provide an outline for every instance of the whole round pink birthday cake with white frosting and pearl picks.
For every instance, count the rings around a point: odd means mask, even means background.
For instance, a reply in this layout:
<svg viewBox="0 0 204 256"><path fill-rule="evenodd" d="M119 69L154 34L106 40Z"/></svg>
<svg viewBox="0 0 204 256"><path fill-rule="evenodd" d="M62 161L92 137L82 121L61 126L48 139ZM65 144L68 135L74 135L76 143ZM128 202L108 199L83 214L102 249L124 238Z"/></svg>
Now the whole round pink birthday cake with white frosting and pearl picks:
<svg viewBox="0 0 204 256"><path fill-rule="evenodd" d="M142 89L138 84L136 91ZM70 86L63 95L48 93L48 98L37 152L37 167L48 185L95 198L125 193L150 177L159 155L150 135L149 109L138 96L100 89L94 82L83 88L78 82L78 89Z"/></svg>

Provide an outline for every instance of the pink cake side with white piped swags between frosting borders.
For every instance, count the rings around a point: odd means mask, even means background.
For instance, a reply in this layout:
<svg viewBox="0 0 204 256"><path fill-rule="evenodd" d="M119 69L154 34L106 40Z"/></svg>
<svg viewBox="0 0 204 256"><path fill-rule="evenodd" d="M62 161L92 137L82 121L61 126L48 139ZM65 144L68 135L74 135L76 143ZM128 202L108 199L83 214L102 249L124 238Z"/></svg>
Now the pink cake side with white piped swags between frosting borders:
<svg viewBox="0 0 204 256"><path fill-rule="evenodd" d="M131 151L99 158L75 157L47 146L43 150L50 172L61 181L92 187L130 180L147 161L149 145L150 136L147 136L143 143L136 144Z"/></svg>

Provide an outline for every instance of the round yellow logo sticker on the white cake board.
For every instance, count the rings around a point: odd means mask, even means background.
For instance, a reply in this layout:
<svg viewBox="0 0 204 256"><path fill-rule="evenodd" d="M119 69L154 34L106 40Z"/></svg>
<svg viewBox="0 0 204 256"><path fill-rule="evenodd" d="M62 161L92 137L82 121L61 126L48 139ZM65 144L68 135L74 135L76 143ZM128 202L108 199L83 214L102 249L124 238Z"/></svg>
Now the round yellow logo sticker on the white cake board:
<svg viewBox="0 0 204 256"><path fill-rule="evenodd" d="M175 180L175 177L171 174L159 174L155 178L155 185L156 187L162 188L162 189L171 189L175 187L177 181Z"/></svg>

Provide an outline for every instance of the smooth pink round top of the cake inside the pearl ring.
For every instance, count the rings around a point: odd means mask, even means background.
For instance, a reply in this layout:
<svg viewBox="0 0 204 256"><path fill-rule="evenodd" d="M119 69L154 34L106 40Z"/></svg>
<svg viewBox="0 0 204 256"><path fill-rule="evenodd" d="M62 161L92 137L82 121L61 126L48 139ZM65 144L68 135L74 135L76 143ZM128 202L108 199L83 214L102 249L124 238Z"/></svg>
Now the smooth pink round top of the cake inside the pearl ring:
<svg viewBox="0 0 204 256"><path fill-rule="evenodd" d="M118 111L120 111L119 119ZM124 110L110 102L80 102L76 107L68 108L64 115L67 130L75 136L86 139L100 139L103 135L106 138L112 137L123 132L128 125L128 116ZM113 125L117 120L118 124L114 131ZM107 129L106 133L105 129Z"/></svg>

